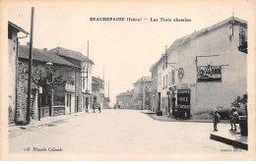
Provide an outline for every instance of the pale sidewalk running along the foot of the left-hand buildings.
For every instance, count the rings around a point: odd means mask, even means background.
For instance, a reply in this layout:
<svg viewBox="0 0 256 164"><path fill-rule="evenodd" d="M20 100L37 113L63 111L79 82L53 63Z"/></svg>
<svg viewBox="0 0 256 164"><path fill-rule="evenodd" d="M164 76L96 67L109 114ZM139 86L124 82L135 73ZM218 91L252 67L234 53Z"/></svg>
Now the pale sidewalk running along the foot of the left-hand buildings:
<svg viewBox="0 0 256 164"><path fill-rule="evenodd" d="M31 123L27 126L19 126L16 124L11 124L11 125L9 125L8 130L9 130L9 133L10 132L14 133L14 132L21 131L21 130L32 130L37 127L43 127L43 126L47 126L47 125L50 126L51 124L58 123L60 121L74 118L74 117L77 117L79 115L84 115L84 114L86 114L85 111L70 114L70 115L61 115L61 116L55 116L55 117L41 118L40 121L32 120Z"/></svg>

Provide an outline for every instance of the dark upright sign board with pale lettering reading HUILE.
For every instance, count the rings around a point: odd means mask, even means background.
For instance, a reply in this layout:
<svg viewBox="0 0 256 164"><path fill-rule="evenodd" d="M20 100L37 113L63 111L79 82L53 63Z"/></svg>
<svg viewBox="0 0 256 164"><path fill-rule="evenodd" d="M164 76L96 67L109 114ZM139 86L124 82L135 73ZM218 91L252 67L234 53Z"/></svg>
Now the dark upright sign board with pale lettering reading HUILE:
<svg viewBox="0 0 256 164"><path fill-rule="evenodd" d="M177 106L190 110L190 89L177 89Z"/></svg>

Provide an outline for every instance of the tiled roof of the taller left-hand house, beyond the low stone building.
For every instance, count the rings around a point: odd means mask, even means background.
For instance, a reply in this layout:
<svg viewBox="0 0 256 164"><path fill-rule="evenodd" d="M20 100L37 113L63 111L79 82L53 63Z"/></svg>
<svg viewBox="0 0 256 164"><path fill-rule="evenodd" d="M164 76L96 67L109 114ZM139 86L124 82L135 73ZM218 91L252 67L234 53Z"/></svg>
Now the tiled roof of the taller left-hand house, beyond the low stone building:
<svg viewBox="0 0 256 164"><path fill-rule="evenodd" d="M93 62L93 60L86 57L81 52L73 51L73 50L70 50L70 49L63 48L63 47L56 47L56 48L50 49L50 50L47 51L47 53L49 53L51 55L60 55L60 56L63 56L63 57L68 57L68 58L79 60L79 61L82 61L82 62L90 62L93 65L95 64Z"/></svg>

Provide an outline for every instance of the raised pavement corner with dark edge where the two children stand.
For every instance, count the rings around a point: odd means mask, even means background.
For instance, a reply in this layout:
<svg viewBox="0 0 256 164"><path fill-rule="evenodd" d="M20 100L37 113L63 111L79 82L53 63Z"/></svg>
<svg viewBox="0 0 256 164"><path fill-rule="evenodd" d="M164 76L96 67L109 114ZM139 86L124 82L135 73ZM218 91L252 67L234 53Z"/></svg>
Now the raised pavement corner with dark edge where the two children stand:
<svg viewBox="0 0 256 164"><path fill-rule="evenodd" d="M213 131L210 133L210 138L224 142L226 144L233 145L238 148L248 150L248 140L247 137L243 137L240 135L240 128L236 125L236 131L229 131L230 125L229 124L222 124L218 125L219 131Z"/></svg>

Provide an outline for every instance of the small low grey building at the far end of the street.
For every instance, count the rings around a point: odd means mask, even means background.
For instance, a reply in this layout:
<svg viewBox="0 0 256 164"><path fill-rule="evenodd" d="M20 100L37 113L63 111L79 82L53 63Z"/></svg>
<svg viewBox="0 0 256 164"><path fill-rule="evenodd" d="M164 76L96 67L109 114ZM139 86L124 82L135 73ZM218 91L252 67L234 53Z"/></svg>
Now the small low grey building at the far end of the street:
<svg viewBox="0 0 256 164"><path fill-rule="evenodd" d="M116 95L117 109L133 109L133 90L127 90Z"/></svg>

